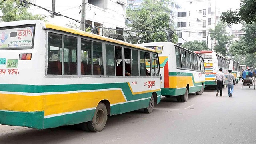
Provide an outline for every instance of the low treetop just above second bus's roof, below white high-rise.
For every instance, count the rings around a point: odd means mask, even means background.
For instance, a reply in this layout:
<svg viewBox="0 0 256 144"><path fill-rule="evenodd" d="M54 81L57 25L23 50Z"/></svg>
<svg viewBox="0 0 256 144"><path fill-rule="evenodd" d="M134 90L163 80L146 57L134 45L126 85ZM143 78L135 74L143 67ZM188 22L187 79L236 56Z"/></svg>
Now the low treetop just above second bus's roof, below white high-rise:
<svg viewBox="0 0 256 144"><path fill-rule="evenodd" d="M197 40L193 41L193 42L185 42L184 44L182 44L182 47L191 50L191 51L199 51L199 50L210 50L210 48L208 48L206 42L199 42Z"/></svg>

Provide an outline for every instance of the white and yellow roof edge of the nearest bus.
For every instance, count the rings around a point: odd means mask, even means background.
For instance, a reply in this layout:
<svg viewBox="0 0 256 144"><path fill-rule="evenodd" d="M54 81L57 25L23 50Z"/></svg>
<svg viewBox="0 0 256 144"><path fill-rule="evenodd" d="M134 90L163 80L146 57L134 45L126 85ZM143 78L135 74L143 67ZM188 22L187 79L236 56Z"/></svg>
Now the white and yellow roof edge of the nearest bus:
<svg viewBox="0 0 256 144"><path fill-rule="evenodd" d="M68 33L71 33L71 34L77 34L77 35L80 35L80 36L86 36L86 37L95 38L95 39L98 39L98 40L104 40L104 41L107 41L107 42L122 44L124 46L130 46L130 47L133 47L133 48L138 48L138 49L142 49L142 50L156 52L155 50L152 50L150 48L146 48L146 47L143 47L143 46L138 46L136 44L130 44L128 42L108 38L106 36L100 36L100 35L97 35L97 34L84 32L82 30L77 30L77 29L68 28L68 27L64 27L64 26L59 26L59 25L56 25L56 24L52 24L50 22L42 22L42 21L39 21L39 20L22 20L22 21L15 21L15 22L1 22L0 28L1 27L26 25L26 24L41 24L43 28L47 28L47 29L59 30L59 31L62 31L62 32L68 32Z"/></svg>

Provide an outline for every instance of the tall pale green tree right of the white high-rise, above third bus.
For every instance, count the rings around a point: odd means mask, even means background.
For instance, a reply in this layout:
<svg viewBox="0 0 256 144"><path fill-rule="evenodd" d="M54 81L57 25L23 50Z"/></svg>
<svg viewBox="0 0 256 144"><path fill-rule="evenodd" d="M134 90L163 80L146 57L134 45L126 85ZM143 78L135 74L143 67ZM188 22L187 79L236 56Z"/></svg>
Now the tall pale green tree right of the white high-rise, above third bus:
<svg viewBox="0 0 256 144"><path fill-rule="evenodd" d="M216 45L214 46L214 50L217 53L226 56L227 47L232 42L233 36L228 36L226 32L226 24L223 22L219 22L215 28L209 29L210 37L212 40L216 40Z"/></svg>

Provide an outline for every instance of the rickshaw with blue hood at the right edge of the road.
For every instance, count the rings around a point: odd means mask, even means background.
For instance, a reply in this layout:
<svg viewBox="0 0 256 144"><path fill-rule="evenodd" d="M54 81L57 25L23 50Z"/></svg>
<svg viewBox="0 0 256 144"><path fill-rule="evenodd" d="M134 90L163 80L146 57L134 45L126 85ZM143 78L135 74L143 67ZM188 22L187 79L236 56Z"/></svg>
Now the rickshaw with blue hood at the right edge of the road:
<svg viewBox="0 0 256 144"><path fill-rule="evenodd" d="M255 77L253 76L253 72L250 70L244 70L242 75L242 89L243 86L254 86L255 90Z"/></svg>

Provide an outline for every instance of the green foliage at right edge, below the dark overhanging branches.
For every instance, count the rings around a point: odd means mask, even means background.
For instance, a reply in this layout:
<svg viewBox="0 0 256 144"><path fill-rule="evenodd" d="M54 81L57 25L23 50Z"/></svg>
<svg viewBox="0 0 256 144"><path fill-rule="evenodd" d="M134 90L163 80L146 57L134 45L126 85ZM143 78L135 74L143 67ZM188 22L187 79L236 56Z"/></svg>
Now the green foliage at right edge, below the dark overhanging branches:
<svg viewBox="0 0 256 144"><path fill-rule="evenodd" d="M245 32L245 35L230 46L232 56L256 52L256 23L245 24L242 31Z"/></svg>

